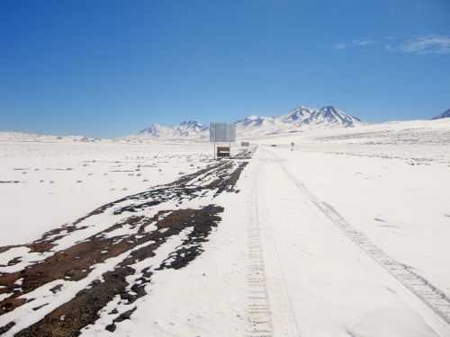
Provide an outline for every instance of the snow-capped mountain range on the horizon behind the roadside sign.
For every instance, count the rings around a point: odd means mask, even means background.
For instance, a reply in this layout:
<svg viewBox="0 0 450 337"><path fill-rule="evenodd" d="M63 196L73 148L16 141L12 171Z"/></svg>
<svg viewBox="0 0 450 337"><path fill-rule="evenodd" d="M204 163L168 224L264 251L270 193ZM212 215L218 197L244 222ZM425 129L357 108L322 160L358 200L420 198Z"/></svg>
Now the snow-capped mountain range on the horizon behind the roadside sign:
<svg viewBox="0 0 450 337"><path fill-rule="evenodd" d="M247 116L235 122L240 137L258 137L317 128L351 128L361 120L333 106L311 109L299 106L287 114L266 117ZM184 121L176 126L152 124L130 137L154 139L205 139L209 128L195 120Z"/></svg>

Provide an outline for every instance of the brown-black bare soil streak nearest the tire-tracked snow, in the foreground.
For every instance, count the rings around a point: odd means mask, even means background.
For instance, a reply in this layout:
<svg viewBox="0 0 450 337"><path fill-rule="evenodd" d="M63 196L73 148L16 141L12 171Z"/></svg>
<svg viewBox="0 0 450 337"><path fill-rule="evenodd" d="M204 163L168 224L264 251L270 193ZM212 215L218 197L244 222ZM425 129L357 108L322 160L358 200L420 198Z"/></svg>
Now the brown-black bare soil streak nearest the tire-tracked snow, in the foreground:
<svg viewBox="0 0 450 337"><path fill-rule="evenodd" d="M201 243L204 242L211 233L211 228L217 226L220 217L217 215L223 211L223 208L217 206L207 206L201 209L180 209L170 213L169 216L161 220L163 224L157 227L169 228L155 244L148 244L136 251L130 253L129 257L119 263L114 270L103 274L103 281L95 280L88 288L76 294L76 297L68 301L63 306L46 315L44 319L29 328L24 329L15 336L27 337L65 337L77 336L79 331L88 324L94 323L98 318L98 312L103 306L106 306L114 297L119 295L128 305L131 305L139 297L147 294L145 286L151 279L151 272L144 273L139 282L131 285L126 277L133 275L136 270L130 267L132 264L152 257L157 247L163 244L170 236L177 235L185 228L193 227L188 238L184 240L174 253L172 253L165 262L157 268L161 269L180 269L193 261L196 256L202 253ZM182 254L187 252L185 254ZM130 318L130 314L135 310L132 307L127 314L121 314L112 320L112 324L107 326L109 331L115 330L115 324ZM64 320L61 320L64 317Z"/></svg>

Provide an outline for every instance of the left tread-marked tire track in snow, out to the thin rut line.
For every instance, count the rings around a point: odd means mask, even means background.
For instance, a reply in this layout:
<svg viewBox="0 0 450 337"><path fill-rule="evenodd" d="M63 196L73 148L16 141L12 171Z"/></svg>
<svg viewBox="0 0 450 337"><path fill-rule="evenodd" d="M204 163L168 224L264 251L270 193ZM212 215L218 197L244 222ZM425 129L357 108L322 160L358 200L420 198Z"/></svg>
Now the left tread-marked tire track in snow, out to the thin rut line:
<svg viewBox="0 0 450 337"><path fill-rule="evenodd" d="M298 337L300 328L286 287L282 259L272 233L272 226L264 222L264 212L260 211L268 206L259 198L258 191L263 162L262 158L258 158L258 166L253 173L254 181L250 197L250 221L247 235L249 261L247 336ZM268 258L266 261L265 256Z"/></svg>

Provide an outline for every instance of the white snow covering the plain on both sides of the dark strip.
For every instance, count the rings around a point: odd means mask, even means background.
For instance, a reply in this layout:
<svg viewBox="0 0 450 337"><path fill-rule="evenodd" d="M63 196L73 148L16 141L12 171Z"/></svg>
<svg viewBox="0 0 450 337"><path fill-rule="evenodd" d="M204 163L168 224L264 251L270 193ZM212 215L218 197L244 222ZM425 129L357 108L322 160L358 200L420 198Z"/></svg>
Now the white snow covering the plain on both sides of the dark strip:
<svg viewBox="0 0 450 337"><path fill-rule="evenodd" d="M114 333L110 302L82 335L450 336L450 119L247 138L258 148L238 192L189 201L224 208L203 253L155 273ZM211 164L202 142L16 140L0 142L0 245Z"/></svg>

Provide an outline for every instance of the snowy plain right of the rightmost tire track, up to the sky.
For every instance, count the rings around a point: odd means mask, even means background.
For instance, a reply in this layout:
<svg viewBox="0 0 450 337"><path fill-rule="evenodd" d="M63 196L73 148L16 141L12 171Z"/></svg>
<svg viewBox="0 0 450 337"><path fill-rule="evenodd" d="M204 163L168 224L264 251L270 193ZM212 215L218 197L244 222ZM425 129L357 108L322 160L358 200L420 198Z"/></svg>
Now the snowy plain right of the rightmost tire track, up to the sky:
<svg viewBox="0 0 450 337"><path fill-rule="evenodd" d="M401 139L401 140L399 140ZM450 295L450 120L261 141L320 200ZM291 151L291 142L294 142Z"/></svg>

